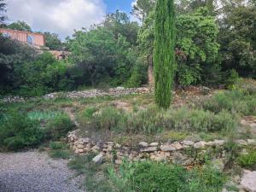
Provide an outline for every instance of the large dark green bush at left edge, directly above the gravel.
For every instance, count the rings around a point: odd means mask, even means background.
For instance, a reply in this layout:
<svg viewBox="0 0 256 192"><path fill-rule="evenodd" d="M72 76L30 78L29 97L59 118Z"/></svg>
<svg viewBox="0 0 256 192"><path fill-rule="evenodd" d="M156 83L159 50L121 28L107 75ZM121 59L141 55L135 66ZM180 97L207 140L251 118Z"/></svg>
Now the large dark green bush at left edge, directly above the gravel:
<svg viewBox="0 0 256 192"><path fill-rule="evenodd" d="M0 145L9 150L36 147L44 141L44 131L38 121L14 112L0 125Z"/></svg>

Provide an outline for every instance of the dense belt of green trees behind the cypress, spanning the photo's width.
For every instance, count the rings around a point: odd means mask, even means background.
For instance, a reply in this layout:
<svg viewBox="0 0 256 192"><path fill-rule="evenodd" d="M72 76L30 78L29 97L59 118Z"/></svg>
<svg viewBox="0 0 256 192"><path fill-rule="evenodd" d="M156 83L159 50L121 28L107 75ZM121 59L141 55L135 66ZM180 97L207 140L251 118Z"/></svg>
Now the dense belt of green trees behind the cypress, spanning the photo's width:
<svg viewBox="0 0 256 192"><path fill-rule="evenodd" d="M0 1L2 24L3 19L6 20L4 2ZM174 46L177 67L170 62L171 59L167 62L176 68L175 84L225 84L233 88L238 75L255 78L255 3L232 0L220 5L222 9L218 9L213 1L197 0L184 0L173 5L177 10L175 27L178 35L172 41L175 44L166 44L165 39L160 48L170 52L163 54L168 59L172 57L172 51L165 46ZM55 33L42 32L49 49L73 52L64 62L51 60L43 65L45 60L42 57L46 55L38 56L30 47L0 37L0 93L35 96L81 87L135 87L146 84L148 65L153 66L154 71L158 71L159 66L157 61L153 61L153 52L157 51L154 31L158 30L154 26L161 26L168 19L165 17L154 22L158 15L155 6L154 0L133 3L132 15L141 20L141 26L117 10L106 15L101 25L74 32L67 42L61 42ZM174 26L171 22L167 23ZM21 20L2 26L32 32L32 28ZM165 34L174 33L167 30ZM165 57L159 55L159 58ZM38 65L41 67L34 67ZM170 80L174 76L165 67L160 69L166 72L160 77L166 76ZM29 77L28 74L35 75ZM167 81L165 84L168 87L173 85ZM163 90L170 93L167 89ZM164 91L158 92L165 95Z"/></svg>

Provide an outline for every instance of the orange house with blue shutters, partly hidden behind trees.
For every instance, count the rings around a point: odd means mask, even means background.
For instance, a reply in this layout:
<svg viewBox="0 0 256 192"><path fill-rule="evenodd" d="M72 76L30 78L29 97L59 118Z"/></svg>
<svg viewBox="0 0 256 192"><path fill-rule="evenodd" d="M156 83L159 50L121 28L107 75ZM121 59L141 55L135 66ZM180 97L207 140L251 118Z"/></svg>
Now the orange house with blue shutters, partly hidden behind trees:
<svg viewBox="0 0 256 192"><path fill-rule="evenodd" d="M15 39L20 42L30 44L36 49L41 49L42 47L44 47L45 44L44 35L37 32L25 32L0 28L0 33L3 34L3 37Z"/></svg>

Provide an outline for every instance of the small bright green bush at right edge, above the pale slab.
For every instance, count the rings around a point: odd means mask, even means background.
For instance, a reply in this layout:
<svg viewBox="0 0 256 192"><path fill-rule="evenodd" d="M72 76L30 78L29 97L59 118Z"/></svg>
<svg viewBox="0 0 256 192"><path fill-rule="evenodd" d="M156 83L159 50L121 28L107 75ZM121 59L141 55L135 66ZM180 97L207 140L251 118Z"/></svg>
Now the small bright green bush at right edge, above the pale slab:
<svg viewBox="0 0 256 192"><path fill-rule="evenodd" d="M245 168L256 168L256 151L252 150L248 154L241 154L237 159L238 164Z"/></svg>

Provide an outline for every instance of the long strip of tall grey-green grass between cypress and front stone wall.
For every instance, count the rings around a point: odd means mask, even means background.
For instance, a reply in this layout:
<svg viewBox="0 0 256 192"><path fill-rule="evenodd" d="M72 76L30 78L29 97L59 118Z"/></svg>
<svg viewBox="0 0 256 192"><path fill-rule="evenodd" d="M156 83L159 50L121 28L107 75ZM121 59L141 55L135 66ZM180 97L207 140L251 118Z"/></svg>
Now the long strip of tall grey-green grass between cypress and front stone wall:
<svg viewBox="0 0 256 192"><path fill-rule="evenodd" d="M235 129L236 115L228 111L212 113L203 109L178 108L167 111L148 108L137 113L108 108L87 108L80 115L84 129L116 133L155 134L163 131L224 132Z"/></svg>

